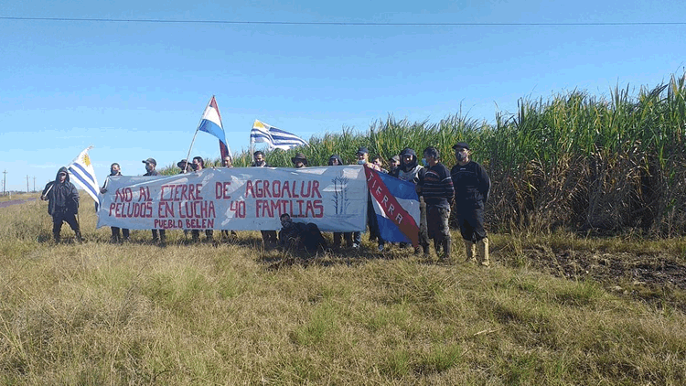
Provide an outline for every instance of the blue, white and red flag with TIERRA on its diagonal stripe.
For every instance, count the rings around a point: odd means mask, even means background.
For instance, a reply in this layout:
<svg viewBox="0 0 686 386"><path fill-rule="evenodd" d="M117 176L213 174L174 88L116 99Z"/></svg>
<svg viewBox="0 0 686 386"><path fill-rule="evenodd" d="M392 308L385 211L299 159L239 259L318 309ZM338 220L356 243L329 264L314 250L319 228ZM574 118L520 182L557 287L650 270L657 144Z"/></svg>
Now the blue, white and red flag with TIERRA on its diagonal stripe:
<svg viewBox="0 0 686 386"><path fill-rule="evenodd" d="M364 168L381 239L419 244L419 198L414 184Z"/></svg>

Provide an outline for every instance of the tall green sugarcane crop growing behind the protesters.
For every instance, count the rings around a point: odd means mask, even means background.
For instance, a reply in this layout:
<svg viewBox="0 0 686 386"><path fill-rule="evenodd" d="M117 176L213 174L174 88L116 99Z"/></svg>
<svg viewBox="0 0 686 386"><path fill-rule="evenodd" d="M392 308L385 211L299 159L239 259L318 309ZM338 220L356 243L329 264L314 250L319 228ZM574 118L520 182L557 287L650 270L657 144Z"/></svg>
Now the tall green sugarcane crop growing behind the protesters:
<svg viewBox="0 0 686 386"><path fill-rule="evenodd" d="M686 80L672 75L654 88L617 86L607 96L574 90L524 98L517 113L498 113L492 124L461 113L438 123L389 116L365 133L343 128L313 136L309 146L266 152L266 158L290 167L302 152L310 166L325 166L333 154L354 163L359 146L388 159L405 147L421 156L431 145L453 166L451 146L464 141L493 182L493 230L671 237L686 234L685 130ZM244 151L234 164L251 162Z"/></svg>

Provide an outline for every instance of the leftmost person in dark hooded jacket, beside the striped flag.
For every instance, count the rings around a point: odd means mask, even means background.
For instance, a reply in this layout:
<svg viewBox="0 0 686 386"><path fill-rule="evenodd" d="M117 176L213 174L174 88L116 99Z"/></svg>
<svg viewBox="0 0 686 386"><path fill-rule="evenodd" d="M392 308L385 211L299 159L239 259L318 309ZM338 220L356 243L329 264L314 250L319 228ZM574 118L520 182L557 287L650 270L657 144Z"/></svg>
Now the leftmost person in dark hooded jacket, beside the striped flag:
<svg viewBox="0 0 686 386"><path fill-rule="evenodd" d="M52 216L52 236L59 243L59 231L62 230L62 222L70 225L76 234L76 240L82 241L79 221L79 191L70 182L67 168L59 168L54 181L48 182L40 195L40 199L48 201L48 214Z"/></svg>

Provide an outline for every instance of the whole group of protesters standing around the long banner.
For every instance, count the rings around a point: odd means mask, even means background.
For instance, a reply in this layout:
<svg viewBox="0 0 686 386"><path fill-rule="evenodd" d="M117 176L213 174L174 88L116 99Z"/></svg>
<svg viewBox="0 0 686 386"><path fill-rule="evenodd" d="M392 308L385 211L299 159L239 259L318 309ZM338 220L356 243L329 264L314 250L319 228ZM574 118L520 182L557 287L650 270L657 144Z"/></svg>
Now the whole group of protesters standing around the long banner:
<svg viewBox="0 0 686 386"><path fill-rule="evenodd" d="M433 240L436 254L444 260L452 257L452 238L450 233L449 219L451 209L459 224L462 238L466 248L468 262L488 266L488 235L484 228L484 207L490 191L490 180L483 166L471 160L471 149L464 142L453 146L456 156L456 165L451 170L441 162L441 155L433 146L423 150L423 158L420 160L412 148L404 148L398 155L392 155L388 159L388 169L384 168L383 158L374 156L370 159L367 147L359 147L356 158L357 164L370 167L381 173L387 173L391 177L413 183L419 197L420 224L418 245L414 252L424 256L430 255L430 242ZM223 167L233 167L230 155L222 157ZM293 167L307 166L307 158L303 153L297 153L291 158ZM155 170L157 162L155 158L147 158L144 176L157 176ZM328 166L344 165L343 158L334 154L328 158ZM181 173L200 171L205 168L202 157L196 156L191 162L183 159L177 163ZM253 167L270 167L266 163L264 153L256 151L253 154ZM119 164L114 163L110 167L110 176L121 176ZM101 188L101 192L107 191L107 182ZM63 222L67 222L76 234L76 239L81 241L79 221L77 213L79 208L79 194L73 184L70 183L69 173L65 167L59 169L55 181L49 182L41 194L41 199L48 200L48 213L53 219L53 237L59 242L59 232ZM368 199L368 226L370 229L370 241L377 242L378 250L384 251L386 241L381 237L381 230L376 221L371 199ZM277 236L276 231L262 231L265 247L281 244L285 247L303 248L308 251L319 247L326 247L326 241L314 223L295 222L288 214L282 214L282 230ZM200 230L189 231L193 241L199 241ZM213 241L213 231L205 230L207 241ZM188 235L188 231L185 231ZM222 238L236 237L235 231L221 231ZM129 241L130 231L112 227L111 241ZM166 243L165 230L152 230L155 243ZM361 244L361 232L334 232L333 247L341 248L342 241L346 241L348 248L359 249ZM401 243L402 247L405 244Z"/></svg>

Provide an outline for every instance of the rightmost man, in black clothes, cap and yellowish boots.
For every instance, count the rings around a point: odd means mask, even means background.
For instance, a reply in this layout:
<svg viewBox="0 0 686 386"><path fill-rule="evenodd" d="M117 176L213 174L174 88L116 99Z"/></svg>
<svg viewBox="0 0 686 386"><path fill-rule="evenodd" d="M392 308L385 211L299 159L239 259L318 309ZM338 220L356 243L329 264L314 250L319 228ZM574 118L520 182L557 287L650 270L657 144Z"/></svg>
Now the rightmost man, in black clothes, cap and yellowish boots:
<svg viewBox="0 0 686 386"><path fill-rule="evenodd" d="M465 240L466 260L488 266L484 207L490 192L490 178L483 166L470 159L472 152L469 145L458 142L453 148L457 164L450 171L450 177L455 186L455 212L460 233Z"/></svg>

